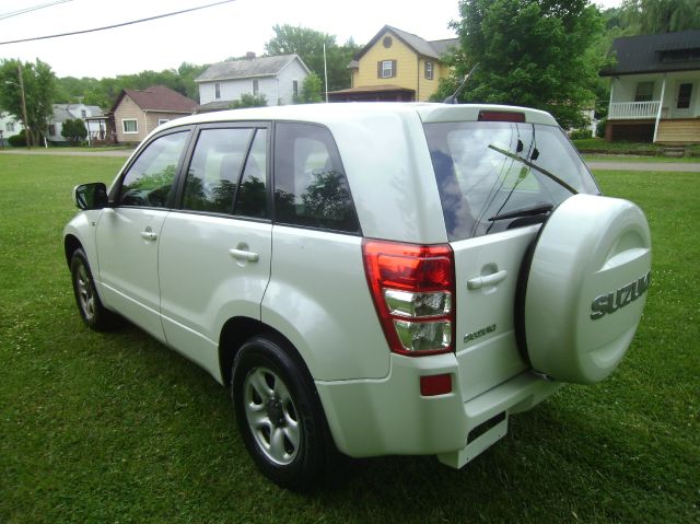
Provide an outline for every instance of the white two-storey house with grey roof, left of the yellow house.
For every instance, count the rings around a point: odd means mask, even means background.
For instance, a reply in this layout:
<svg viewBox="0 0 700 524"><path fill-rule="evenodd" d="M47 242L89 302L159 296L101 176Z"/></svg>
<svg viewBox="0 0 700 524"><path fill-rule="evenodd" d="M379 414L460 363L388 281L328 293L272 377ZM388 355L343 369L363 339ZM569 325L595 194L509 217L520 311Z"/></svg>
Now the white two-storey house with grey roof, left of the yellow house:
<svg viewBox="0 0 700 524"><path fill-rule="evenodd" d="M245 93L265 95L268 105L294 102L310 69L298 55L246 58L210 66L195 81L199 84L198 113L228 109Z"/></svg>

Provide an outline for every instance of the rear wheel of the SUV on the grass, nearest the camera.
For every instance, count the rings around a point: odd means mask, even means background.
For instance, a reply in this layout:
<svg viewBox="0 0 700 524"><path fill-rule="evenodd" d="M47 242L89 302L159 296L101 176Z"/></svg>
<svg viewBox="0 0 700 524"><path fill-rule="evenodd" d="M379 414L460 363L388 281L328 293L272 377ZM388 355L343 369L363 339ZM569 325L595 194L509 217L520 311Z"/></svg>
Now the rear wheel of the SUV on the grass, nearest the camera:
<svg viewBox="0 0 700 524"><path fill-rule="evenodd" d="M236 422L260 471L275 484L304 491L320 480L334 454L313 381L272 337L246 341L233 363Z"/></svg>

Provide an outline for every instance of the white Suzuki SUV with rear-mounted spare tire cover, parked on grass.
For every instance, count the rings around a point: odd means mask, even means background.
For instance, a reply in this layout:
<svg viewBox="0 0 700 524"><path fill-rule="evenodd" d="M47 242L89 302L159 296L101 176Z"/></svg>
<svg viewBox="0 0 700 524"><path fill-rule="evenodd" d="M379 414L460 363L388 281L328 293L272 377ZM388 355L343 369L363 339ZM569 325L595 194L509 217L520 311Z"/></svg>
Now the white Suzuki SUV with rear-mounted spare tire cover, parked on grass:
<svg viewBox="0 0 700 524"><path fill-rule="evenodd" d="M337 104L159 127L66 226L79 311L231 385L281 486L352 457L462 467L562 383L605 379L650 281L633 203L522 107Z"/></svg>

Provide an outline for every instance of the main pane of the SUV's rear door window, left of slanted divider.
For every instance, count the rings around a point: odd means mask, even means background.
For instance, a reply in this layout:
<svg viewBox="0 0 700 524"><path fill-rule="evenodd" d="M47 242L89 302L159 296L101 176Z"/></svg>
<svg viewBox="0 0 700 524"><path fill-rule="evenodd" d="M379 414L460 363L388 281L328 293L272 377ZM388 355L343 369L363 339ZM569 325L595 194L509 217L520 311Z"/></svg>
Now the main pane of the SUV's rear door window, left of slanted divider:
<svg viewBox="0 0 700 524"><path fill-rule="evenodd" d="M185 179L183 208L231 213L253 129L205 129Z"/></svg>

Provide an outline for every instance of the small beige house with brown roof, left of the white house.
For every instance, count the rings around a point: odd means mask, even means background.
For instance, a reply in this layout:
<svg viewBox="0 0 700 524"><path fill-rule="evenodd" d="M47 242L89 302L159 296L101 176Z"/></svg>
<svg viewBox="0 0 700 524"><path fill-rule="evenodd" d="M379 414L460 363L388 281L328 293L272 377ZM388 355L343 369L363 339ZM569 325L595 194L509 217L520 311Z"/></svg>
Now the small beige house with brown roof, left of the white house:
<svg viewBox="0 0 700 524"><path fill-rule="evenodd" d="M164 85L122 90L112 108L117 142L140 142L166 121L191 115L197 102Z"/></svg>

